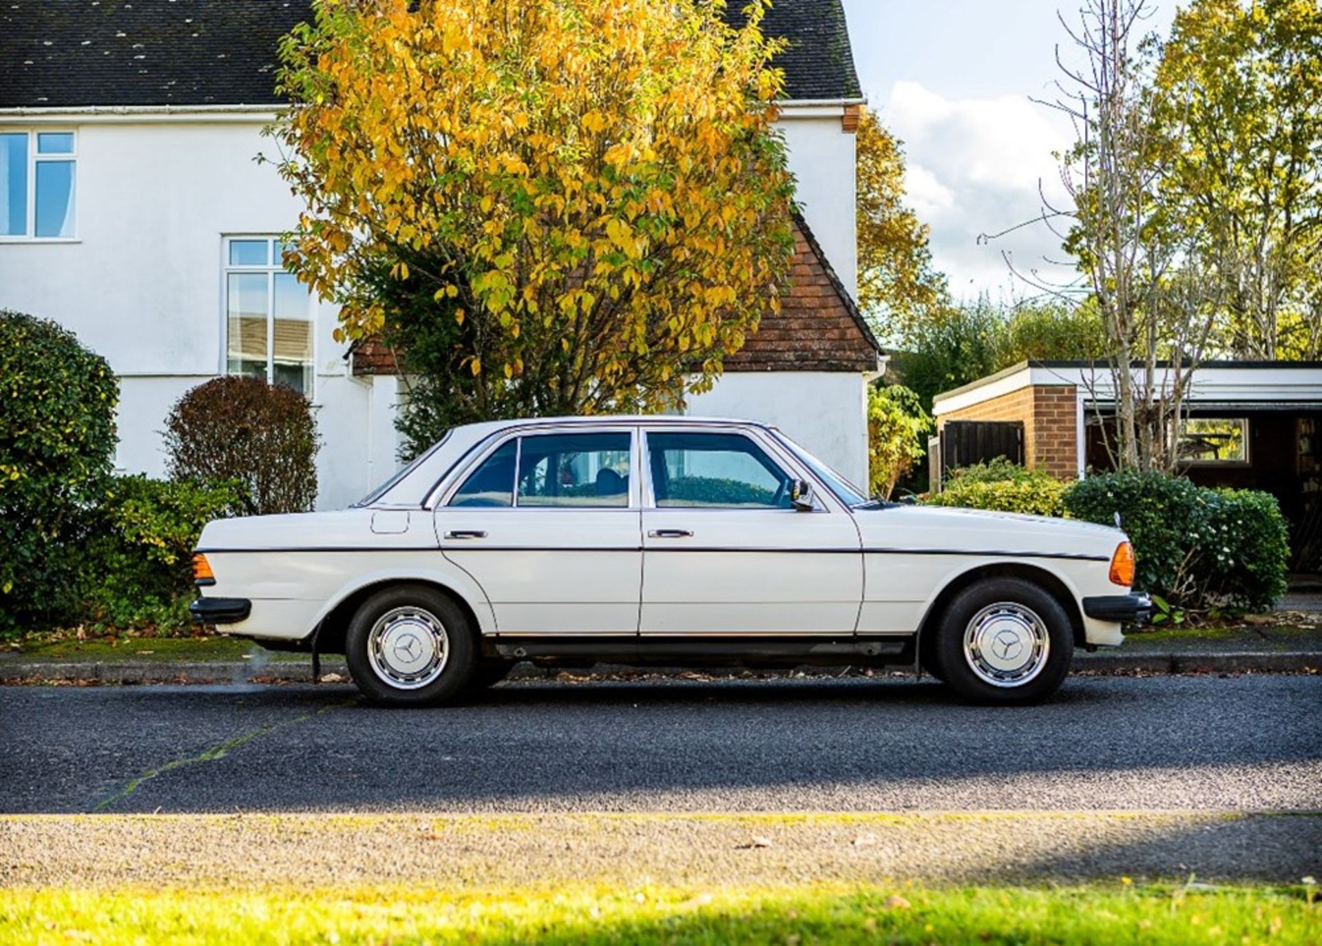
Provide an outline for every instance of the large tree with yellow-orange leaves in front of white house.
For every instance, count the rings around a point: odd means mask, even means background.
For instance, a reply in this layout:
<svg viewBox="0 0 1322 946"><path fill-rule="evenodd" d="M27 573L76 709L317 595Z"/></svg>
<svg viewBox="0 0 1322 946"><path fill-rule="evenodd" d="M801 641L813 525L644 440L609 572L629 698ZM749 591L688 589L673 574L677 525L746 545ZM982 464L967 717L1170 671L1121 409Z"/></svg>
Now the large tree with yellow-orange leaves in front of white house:
<svg viewBox="0 0 1322 946"><path fill-rule="evenodd" d="M710 388L793 250L764 7L317 0L282 46L286 263L341 337L439 353L432 427Z"/></svg>

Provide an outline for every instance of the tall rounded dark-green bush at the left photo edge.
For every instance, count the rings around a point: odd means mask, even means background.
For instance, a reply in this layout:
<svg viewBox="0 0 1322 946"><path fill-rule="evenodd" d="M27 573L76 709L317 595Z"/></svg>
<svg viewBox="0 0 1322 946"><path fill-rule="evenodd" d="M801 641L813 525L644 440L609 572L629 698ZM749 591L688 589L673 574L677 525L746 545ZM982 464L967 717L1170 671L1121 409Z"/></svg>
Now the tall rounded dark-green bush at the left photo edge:
<svg viewBox="0 0 1322 946"><path fill-rule="evenodd" d="M119 385L53 322L0 310L0 632L59 623L91 497L110 476Z"/></svg>

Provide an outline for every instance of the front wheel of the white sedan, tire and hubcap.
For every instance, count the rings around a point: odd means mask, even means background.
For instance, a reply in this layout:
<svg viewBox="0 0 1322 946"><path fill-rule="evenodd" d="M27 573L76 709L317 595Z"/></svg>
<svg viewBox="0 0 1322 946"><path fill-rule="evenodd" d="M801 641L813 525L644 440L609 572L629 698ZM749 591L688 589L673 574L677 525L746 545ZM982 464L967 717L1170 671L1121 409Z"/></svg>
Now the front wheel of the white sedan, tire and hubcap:
<svg viewBox="0 0 1322 946"><path fill-rule="evenodd" d="M1039 703L1060 688L1073 659L1069 615L1025 578L989 578L956 594L935 643L945 683L984 704Z"/></svg>

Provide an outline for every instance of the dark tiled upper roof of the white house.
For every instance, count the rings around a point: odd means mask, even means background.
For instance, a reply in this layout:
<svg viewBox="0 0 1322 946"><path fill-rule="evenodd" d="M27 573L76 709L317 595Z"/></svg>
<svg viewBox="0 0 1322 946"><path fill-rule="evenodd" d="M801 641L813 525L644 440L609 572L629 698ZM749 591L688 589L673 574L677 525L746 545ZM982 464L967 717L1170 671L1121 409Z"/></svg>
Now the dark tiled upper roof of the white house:
<svg viewBox="0 0 1322 946"><path fill-rule="evenodd" d="M0 0L0 108L279 105L276 44L307 15L308 0ZM859 97L841 0L777 0L765 30L789 41L788 98Z"/></svg>

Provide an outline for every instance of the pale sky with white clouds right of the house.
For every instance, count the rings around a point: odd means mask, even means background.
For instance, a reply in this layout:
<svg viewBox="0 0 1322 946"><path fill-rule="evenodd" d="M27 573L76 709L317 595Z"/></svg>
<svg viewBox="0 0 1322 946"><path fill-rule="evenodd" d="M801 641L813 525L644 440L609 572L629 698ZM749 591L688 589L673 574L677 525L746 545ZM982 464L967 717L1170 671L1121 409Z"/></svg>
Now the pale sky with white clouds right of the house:
<svg viewBox="0 0 1322 946"><path fill-rule="evenodd" d="M1056 46L1075 50L1058 11L1071 0L843 0L863 94L904 142L908 202L931 226L932 258L951 292L1010 302L1036 294L1014 269L1059 283L1060 239L1038 217L1040 193L1064 192L1054 151L1073 140L1056 99ZM1147 29L1166 32L1174 0L1155 0ZM1055 263L1050 261L1056 261Z"/></svg>

